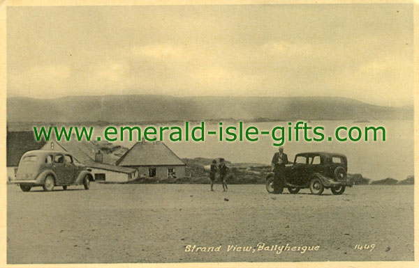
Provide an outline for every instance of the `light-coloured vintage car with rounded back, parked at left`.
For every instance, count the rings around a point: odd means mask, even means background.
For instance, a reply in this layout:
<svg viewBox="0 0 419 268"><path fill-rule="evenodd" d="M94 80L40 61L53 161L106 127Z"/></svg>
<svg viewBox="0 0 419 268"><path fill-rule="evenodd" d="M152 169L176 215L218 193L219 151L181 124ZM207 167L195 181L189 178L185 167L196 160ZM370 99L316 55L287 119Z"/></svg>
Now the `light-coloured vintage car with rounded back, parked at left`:
<svg viewBox="0 0 419 268"><path fill-rule="evenodd" d="M42 186L44 191L52 191L54 186L66 190L69 185L84 185L88 190L94 180L90 171L68 152L32 150L22 155L15 180L10 182L20 184L22 191L37 186Z"/></svg>

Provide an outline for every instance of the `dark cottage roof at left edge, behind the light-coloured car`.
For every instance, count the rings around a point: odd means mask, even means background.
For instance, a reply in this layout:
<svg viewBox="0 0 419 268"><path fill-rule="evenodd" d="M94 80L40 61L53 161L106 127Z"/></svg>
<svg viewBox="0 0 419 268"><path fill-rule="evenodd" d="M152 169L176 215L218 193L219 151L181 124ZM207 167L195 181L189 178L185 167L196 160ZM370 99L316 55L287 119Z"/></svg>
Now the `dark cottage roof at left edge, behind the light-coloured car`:
<svg viewBox="0 0 419 268"><path fill-rule="evenodd" d="M17 166L20 157L30 150L38 150L45 141L36 141L34 132L7 132L6 166Z"/></svg>

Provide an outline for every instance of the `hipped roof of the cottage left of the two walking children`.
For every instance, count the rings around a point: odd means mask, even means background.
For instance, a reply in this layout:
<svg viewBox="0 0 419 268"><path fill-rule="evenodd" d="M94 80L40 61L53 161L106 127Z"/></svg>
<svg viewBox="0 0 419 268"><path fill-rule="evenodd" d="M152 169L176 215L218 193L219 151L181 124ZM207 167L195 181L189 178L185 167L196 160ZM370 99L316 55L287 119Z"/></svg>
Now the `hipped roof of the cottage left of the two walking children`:
<svg viewBox="0 0 419 268"><path fill-rule="evenodd" d="M117 166L185 166L162 142L138 142L122 155Z"/></svg>

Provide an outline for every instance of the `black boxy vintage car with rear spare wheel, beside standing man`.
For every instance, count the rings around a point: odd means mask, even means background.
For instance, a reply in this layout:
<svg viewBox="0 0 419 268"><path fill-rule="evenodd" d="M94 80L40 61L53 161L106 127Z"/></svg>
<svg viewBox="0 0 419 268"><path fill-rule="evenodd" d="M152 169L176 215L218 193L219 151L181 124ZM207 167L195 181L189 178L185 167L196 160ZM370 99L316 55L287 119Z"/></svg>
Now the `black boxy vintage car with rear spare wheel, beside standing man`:
<svg viewBox="0 0 419 268"><path fill-rule="evenodd" d="M333 194L343 194L351 187L346 175L348 162L345 155L330 152L302 152L295 155L294 163L286 164L285 184L274 181L274 173L266 177L266 189L272 194L281 194L284 187L291 194L297 194L302 188L309 188L311 194L321 195L324 189L331 189Z"/></svg>

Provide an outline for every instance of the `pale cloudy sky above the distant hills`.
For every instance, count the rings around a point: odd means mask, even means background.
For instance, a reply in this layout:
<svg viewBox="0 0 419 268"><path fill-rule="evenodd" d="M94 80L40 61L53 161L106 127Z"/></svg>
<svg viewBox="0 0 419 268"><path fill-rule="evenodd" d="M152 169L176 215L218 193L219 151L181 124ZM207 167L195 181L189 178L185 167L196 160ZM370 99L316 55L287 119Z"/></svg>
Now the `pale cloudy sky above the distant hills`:
<svg viewBox="0 0 419 268"><path fill-rule="evenodd" d="M8 97L413 105L413 5L8 7L7 71Z"/></svg>

